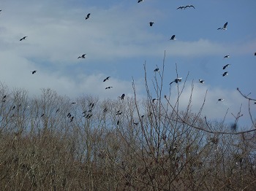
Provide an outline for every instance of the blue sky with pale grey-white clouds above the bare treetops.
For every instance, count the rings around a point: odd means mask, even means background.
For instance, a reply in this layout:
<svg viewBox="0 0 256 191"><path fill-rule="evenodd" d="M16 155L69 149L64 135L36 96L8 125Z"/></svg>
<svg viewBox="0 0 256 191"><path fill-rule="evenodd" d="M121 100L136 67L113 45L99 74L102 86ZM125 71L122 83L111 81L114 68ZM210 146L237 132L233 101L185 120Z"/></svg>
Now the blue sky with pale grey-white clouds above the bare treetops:
<svg viewBox="0 0 256 191"><path fill-rule="evenodd" d="M191 4L195 9L177 9ZM232 121L241 107L240 122L250 125L248 101L236 88L256 98L255 7L255 0L1 0L0 82L30 95L49 87L73 99L104 100L122 93L132 97L134 80L138 98L146 98L146 64L154 97L154 69L162 72L165 55L164 94L171 90L175 97L177 85L169 84L178 71L179 85L187 77L181 106L187 106L193 84L192 111L198 112L207 90L203 115L222 120L228 109ZM227 30L217 30L226 22ZM20 41L23 36L28 37ZM222 77L224 71L228 75ZM110 79L102 82L105 77ZM217 103L219 98L225 101ZM255 119L253 102L250 110Z"/></svg>

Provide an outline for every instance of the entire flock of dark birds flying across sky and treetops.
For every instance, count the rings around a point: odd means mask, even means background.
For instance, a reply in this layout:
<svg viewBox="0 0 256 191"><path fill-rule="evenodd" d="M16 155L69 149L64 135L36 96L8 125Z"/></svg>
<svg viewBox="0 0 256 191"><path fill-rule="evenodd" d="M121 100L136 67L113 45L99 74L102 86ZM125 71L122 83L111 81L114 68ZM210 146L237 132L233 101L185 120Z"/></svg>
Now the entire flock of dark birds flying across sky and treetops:
<svg viewBox="0 0 256 191"><path fill-rule="evenodd" d="M138 0L138 3L140 3L140 2L143 2L143 0ZM187 8L194 8L194 9L195 9L195 7L194 7L192 4L186 5L186 6L177 7L177 9L181 9L181 10L184 10L184 9L187 9ZM1 12L1 10L0 10L0 12ZM91 13L88 13L88 14L86 15L86 17L85 17L85 20L88 20L90 17L91 17ZM153 25L154 25L154 21L150 21L150 22L149 22L149 26L152 27ZM217 30L226 31L226 30L227 30L227 22L226 22L222 27L217 28ZM20 42L23 41L23 40L25 40L27 37L28 37L28 36L23 36L22 38L20 38ZM170 40L173 40L173 41L176 40L176 35L173 34L173 35L170 37ZM256 52L255 52L255 55L256 55ZM78 59L80 59L80 58L81 58L81 59L86 58L86 53L83 54L83 55L78 56ZM230 58L230 55L225 55L224 58ZM225 66L222 67L222 69L225 70L225 69L227 69L228 66L230 66L230 64L226 64ZM36 74L36 72L37 72L37 70L31 71L31 74ZM159 72L159 68L154 69L154 72ZM227 75L228 75L228 71L224 71L224 73L222 74L222 77L225 77L225 76L227 76ZM103 79L103 82L106 82L106 81L108 81L109 79L110 79L110 77L105 77L105 79ZM173 79L173 81L170 82L170 85L172 85L174 82L175 82L176 84L178 84L178 82L181 82L181 80L182 80L182 77L178 77L178 78L176 78L176 79ZM204 80L204 79L199 79L198 82L200 82L201 84L204 84L204 83L205 83L205 80ZM111 89L111 88L113 88L113 86L107 86L107 87L105 87L105 90L108 90L108 89ZM121 100L124 100L124 97L125 97L125 94L124 94L124 93L121 94L121 96L118 96L118 98L120 98ZM7 99L7 95L4 95L4 97L2 98L2 102L5 102L6 99ZM153 98L153 99L152 99L152 102L154 103L155 101L158 101L158 100L159 100L158 98ZM217 103L218 103L219 101L225 101L225 99L224 99L224 98L219 98L219 99L217 100ZM77 103L76 103L76 102L72 102L71 104L77 104ZM254 104L256 104L256 102L255 102ZM16 106L12 106L12 110L15 109L15 107L16 107ZM93 109L94 109L94 103L90 103L90 104L89 104L89 109L87 109L86 111L84 111L84 112L82 113L82 114L83 114L83 117L85 117L86 119L91 118L92 115L93 115L93 114L92 114ZM103 112L107 112L107 111L108 111L108 108L103 109ZM59 109L57 109L56 112L59 112ZM118 111L116 112L116 116L119 116L119 115L121 115L121 114L122 114L121 110L118 110ZM43 116L44 116L44 114L41 114L41 117L43 117ZM72 115L72 114L69 112L69 113L67 114L67 117L69 118L69 122L72 122L72 121L74 120L74 117L75 117L75 116ZM141 117L143 117L143 116L141 116ZM117 120L117 125L118 125L118 124L119 124L119 120ZM135 122L135 125L138 125L138 122Z"/></svg>

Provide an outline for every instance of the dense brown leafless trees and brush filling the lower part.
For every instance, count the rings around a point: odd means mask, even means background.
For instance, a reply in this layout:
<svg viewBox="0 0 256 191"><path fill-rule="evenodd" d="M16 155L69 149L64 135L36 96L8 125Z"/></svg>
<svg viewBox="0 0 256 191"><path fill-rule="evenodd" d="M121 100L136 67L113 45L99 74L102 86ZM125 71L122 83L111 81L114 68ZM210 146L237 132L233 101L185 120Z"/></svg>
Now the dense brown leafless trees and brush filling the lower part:
<svg viewBox="0 0 256 191"><path fill-rule="evenodd" d="M205 100L192 111L193 85L181 109L187 81L174 103L162 95L164 63L152 83L157 99L146 65L143 100L134 84L124 100L88 95L76 104L54 90L30 98L1 84L0 190L255 190L255 128L208 121Z"/></svg>

